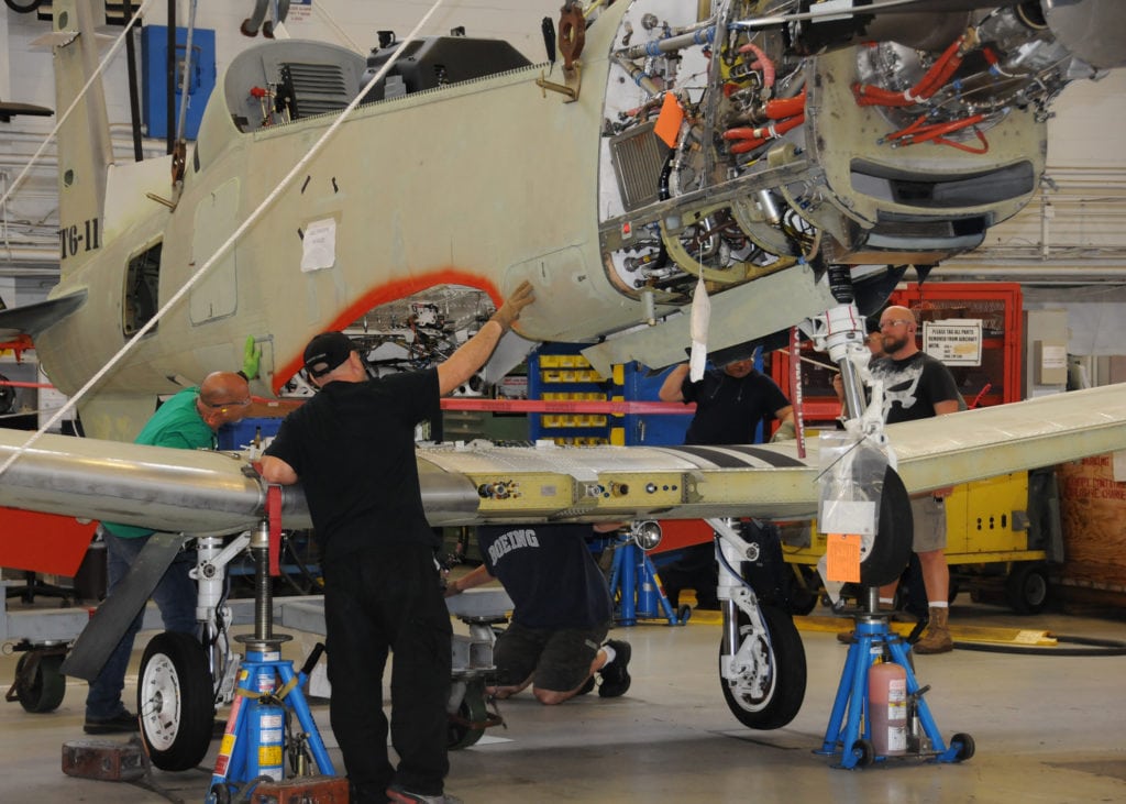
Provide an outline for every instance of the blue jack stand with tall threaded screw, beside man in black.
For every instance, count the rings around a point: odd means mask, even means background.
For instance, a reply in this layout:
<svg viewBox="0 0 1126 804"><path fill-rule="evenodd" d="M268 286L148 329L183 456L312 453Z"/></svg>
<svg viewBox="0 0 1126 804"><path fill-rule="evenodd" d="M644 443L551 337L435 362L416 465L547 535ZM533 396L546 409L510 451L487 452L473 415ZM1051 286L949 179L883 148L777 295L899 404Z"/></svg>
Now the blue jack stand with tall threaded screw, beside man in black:
<svg viewBox="0 0 1126 804"><path fill-rule="evenodd" d="M268 548L269 533L263 524L250 542L254 559L254 633L235 637L245 644L247 656L239 668L238 689L205 804L243 801L243 796L249 801L257 785L283 781L287 754L292 775L311 776L314 771L310 760L321 779L336 775L301 690L324 645L318 644L300 673L294 672L293 662L282 659L282 643L291 637L271 632ZM295 735L288 727L292 715L301 725Z"/></svg>

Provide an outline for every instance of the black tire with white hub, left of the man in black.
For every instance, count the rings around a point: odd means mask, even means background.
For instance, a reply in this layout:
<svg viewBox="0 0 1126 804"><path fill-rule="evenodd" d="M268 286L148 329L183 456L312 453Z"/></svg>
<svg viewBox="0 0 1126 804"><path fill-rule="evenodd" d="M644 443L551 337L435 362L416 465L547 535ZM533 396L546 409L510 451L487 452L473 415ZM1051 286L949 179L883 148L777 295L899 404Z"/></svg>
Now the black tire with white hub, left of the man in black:
<svg viewBox="0 0 1126 804"><path fill-rule="evenodd" d="M166 631L149 642L137 677L141 739L161 770L187 770L211 745L215 693L207 654L190 634Z"/></svg>

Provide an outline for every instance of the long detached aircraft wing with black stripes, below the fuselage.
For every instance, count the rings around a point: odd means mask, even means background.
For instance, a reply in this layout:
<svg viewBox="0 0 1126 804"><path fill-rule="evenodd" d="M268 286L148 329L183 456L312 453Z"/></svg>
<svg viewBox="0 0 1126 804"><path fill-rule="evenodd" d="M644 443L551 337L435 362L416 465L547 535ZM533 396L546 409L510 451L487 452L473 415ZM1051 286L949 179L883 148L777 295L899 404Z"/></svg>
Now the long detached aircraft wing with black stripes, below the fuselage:
<svg viewBox="0 0 1126 804"><path fill-rule="evenodd" d="M911 492L1126 448L1126 384L887 428ZM27 434L0 430L0 461ZM643 517L803 518L816 511L815 439L742 447L421 447L435 526ZM285 527L309 527L301 489ZM265 486L240 456L44 436L0 480L0 506L187 534L252 528ZM0 538L0 564L2 564Z"/></svg>

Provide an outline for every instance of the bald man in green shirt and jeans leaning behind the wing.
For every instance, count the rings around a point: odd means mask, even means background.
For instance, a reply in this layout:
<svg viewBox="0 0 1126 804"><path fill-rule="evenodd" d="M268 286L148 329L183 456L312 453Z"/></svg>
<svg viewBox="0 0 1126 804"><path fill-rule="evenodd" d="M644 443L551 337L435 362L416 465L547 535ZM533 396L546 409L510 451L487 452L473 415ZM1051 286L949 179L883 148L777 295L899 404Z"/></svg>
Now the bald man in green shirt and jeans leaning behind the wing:
<svg viewBox="0 0 1126 804"><path fill-rule="evenodd" d="M218 428L240 421L249 405L250 386L245 378L232 372L215 372L199 387L185 388L164 402L135 440L176 449L214 449ZM108 590L113 593L153 530L117 522L102 522L101 530L108 557ZM196 633L196 587L188 575L195 563L190 551L180 553L153 590L152 599L160 607L167 631ZM90 682L83 726L87 734L137 731L136 715L122 703L122 689L133 640L143 617L144 611L136 616L98 678Z"/></svg>

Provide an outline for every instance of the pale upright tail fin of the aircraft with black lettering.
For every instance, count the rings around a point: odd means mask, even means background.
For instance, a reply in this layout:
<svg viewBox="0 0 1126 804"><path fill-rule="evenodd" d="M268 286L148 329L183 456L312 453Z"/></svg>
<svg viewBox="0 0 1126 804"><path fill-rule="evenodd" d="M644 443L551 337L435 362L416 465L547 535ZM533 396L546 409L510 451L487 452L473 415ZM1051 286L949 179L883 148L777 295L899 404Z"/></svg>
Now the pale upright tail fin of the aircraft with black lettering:
<svg viewBox="0 0 1126 804"><path fill-rule="evenodd" d="M98 68L95 28L99 23L105 24L101 3L54 3L55 108L60 115ZM60 267L65 278L98 252L105 231L106 175L113 146L100 78L90 83L63 122L57 144Z"/></svg>

